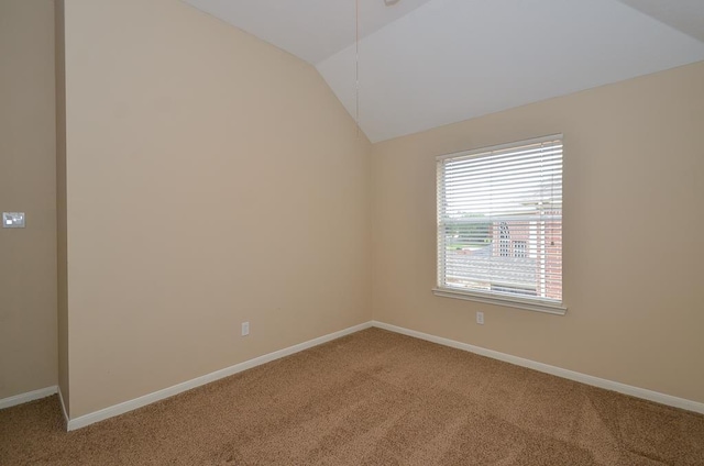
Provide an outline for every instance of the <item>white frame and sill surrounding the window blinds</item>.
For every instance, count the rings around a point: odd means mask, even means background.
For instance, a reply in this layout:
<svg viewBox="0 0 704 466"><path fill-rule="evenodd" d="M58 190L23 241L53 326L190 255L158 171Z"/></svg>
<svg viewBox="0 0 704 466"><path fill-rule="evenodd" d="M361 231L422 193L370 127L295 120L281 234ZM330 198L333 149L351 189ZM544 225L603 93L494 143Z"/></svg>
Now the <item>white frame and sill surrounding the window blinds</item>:
<svg viewBox="0 0 704 466"><path fill-rule="evenodd" d="M446 164L451 164L453 162L457 160L469 160L472 158L477 158L480 159L481 157L491 157L493 156L495 153L505 153L506 151L510 151L513 148L519 148L522 146L529 146L529 145L536 145L536 144L547 144L547 143L551 143L551 142L556 142L556 141L560 141L562 142L563 136L562 134L553 134L553 135L549 135L549 136L543 136L543 137L537 137L537 138L532 138L532 140L526 140L526 141L518 141L515 143L509 143L509 144L502 144L502 145L496 145L496 146L491 146L491 147L482 147L482 148L477 148L477 149L472 149L472 151L464 151L464 152L459 152L459 153L452 153L452 154L446 154L446 155L440 155L438 157L436 157L437 160L437 176L438 176L438 186L437 186L437 195L438 195L438 210L437 210L437 219L438 219L438 230L437 230L437 237L438 237L438 247L437 247L437 259L438 259L438 282L437 282L437 287L433 288L433 293L436 296L439 297L444 297L444 298L454 298L454 299L463 299L463 300L470 300L470 301L477 301L477 302L483 302L483 303L488 303L488 304L498 304L498 306L506 306L506 307L512 307L512 308L519 308L519 309L526 309L526 310L530 310L530 311L539 311L539 312L547 312L547 313L551 313L551 314L558 314L558 315L564 315L564 313L566 312L566 307L564 306L564 299L562 297L562 290L564 289L563 287L563 282L562 282L562 277L564 276L564 274L562 273L562 256L564 255L563 253L563 243L562 243L562 222L560 220L560 232L559 232L559 241L560 241L560 299L550 299L547 297L525 297L521 296L521 293L519 292L506 292L505 291L505 287L503 287L501 284L495 284L495 282L491 282L491 288L488 290L481 290L481 289L472 289L472 288L463 288L459 285L455 286L450 286L448 285L448 280L446 279L446 275L447 275L447 268L446 268L446 260L447 260L447 228L449 224L451 224L451 219L449 218L449 213L447 212L447 206L448 203L446 202ZM562 149L564 152L564 149ZM560 189L559 189L559 199L560 199L560 219L562 218L562 213L563 213L563 209L562 209L562 166L563 166L563 160L564 160L564 155L562 152L562 156L560 158L560 177L559 177L559 182L560 182ZM551 181L554 184L554 180ZM493 188L492 188L493 189ZM554 193L553 193L554 196ZM492 201L493 202L493 201ZM551 212L554 213L554 212ZM448 218L443 219L443 214L446 214ZM490 215L487 219L491 219L492 217ZM493 225L497 224L497 221L493 221ZM495 226L492 226L492 229L494 229ZM544 228L543 228L544 230ZM532 232L532 230L531 230ZM499 232L499 235L502 235L503 233ZM501 236L502 238L504 236ZM532 237L532 236L531 236ZM544 241L544 232L542 233L542 236L539 234L538 242L540 241ZM492 246L493 247L493 246ZM504 251L506 248L505 245L499 244L497 245L498 248L502 248L502 256L506 254L506 251ZM522 247L522 246L521 246ZM508 251L508 249L507 249ZM526 254L526 251L521 249L520 254ZM542 253L543 255L537 255L536 256L536 264L538 266L540 266L540 264L542 264L544 266L544 254L547 253ZM525 256L522 256L525 257ZM473 279L475 277L472 277L471 275L466 276L468 279ZM540 277L536 277L537 280L540 280ZM494 286L496 286L496 290L494 289Z"/></svg>

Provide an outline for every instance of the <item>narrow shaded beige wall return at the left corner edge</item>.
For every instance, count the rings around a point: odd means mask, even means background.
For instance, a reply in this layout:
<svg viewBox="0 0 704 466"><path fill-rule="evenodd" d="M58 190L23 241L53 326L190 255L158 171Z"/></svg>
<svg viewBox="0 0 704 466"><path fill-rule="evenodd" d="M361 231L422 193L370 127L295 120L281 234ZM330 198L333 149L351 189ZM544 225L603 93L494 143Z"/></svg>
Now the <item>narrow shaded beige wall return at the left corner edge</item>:
<svg viewBox="0 0 704 466"><path fill-rule="evenodd" d="M56 62L56 278L57 278L57 339L58 389L70 415L68 384L68 276L66 251L66 76L64 51L64 1L55 0L55 62Z"/></svg>

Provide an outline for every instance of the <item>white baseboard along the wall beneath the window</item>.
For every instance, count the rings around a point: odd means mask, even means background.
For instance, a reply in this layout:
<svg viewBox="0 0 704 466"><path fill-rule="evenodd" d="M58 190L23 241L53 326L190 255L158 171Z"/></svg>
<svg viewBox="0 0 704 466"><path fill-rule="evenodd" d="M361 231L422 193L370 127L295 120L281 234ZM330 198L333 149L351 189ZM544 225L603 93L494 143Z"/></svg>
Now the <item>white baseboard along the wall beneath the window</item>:
<svg viewBox="0 0 704 466"><path fill-rule="evenodd" d="M670 395L660 393L658 391L647 390L645 388L632 387L630 385L620 384L613 380L607 380L586 374L575 373L574 370L568 370L548 364L537 363L535 360L525 359L522 357L512 356L509 354L499 353L493 350L486 350L481 346L470 345L468 343L457 342L454 340L443 339L441 336L430 335L428 333L417 332L415 330L404 329L402 326L391 325L388 323L372 321L372 325L388 330L391 332L400 333L416 339L426 340L428 342L438 343L440 345L450 346L458 350L475 353L481 356L491 357L493 359L503 360L506 363L515 364L517 366L527 367L529 369L539 370L541 373L551 374L553 376L566 378L570 380L579 381L582 384L591 385L593 387L604 388L606 390L618 391L619 393L630 395L631 397L642 398L644 400L654 401L657 403L667 404L674 408L684 409L688 411L694 411L704 414L704 403L688 400L684 398L678 398Z"/></svg>

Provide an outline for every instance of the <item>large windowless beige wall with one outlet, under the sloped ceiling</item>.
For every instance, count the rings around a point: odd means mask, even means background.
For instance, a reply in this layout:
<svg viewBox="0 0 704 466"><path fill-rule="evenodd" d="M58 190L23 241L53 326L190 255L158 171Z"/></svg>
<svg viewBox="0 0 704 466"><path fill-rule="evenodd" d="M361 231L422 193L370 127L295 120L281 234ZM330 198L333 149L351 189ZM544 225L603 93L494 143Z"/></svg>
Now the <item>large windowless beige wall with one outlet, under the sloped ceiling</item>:
<svg viewBox="0 0 704 466"><path fill-rule="evenodd" d="M64 14L70 418L369 321L371 145L315 68L176 0Z"/></svg>

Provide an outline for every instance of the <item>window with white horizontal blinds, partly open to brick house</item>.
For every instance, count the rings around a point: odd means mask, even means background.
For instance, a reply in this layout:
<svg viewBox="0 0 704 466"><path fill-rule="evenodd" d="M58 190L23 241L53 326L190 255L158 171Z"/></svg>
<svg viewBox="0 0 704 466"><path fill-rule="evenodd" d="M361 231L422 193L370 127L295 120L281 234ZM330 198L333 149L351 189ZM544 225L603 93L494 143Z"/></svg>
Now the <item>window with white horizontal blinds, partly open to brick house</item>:
<svg viewBox="0 0 704 466"><path fill-rule="evenodd" d="M437 160L435 293L563 314L562 136Z"/></svg>

